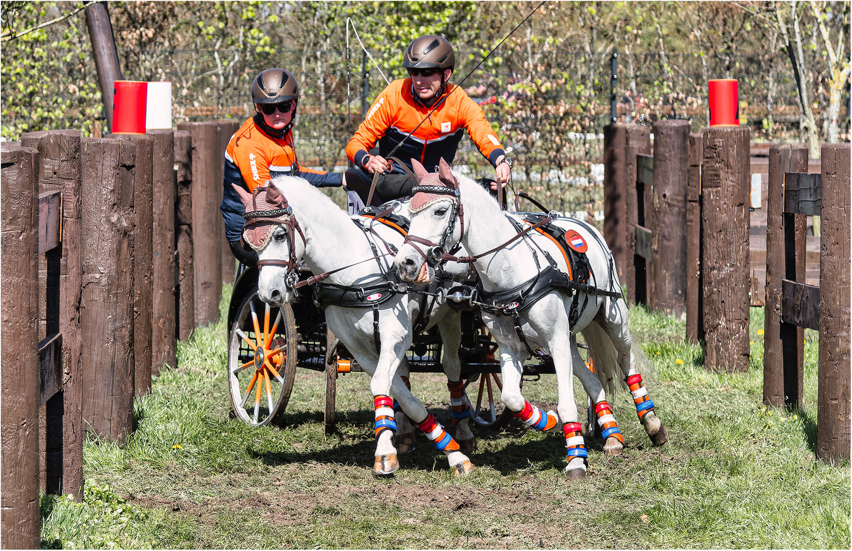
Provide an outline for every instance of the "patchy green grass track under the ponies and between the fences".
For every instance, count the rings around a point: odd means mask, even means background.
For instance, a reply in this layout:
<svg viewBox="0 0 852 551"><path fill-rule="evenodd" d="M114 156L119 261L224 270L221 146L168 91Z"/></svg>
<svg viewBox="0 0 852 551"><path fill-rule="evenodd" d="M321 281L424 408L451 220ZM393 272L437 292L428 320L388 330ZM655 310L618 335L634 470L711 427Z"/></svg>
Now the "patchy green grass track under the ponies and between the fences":
<svg viewBox="0 0 852 551"><path fill-rule="evenodd" d="M230 415L223 322L200 328L180 343L176 369L137 400L129 442L87 441L85 501L43 496L43 545L848 549L849 464L815 459L815 334L806 337L802 408L766 409L763 312L751 314L751 370L727 375L705 370L682 323L633 308L670 441L651 445L620 393L611 404L625 452L604 456L590 442L590 476L580 482L561 475L561 435L517 422L477 431L477 470L464 479L422 437L393 479L373 478L364 374L338 380L337 434L323 433L324 375L307 370L296 375L283 427L248 428ZM445 383L412 376L414 393L449 425ZM553 407L555 377L524 393Z"/></svg>

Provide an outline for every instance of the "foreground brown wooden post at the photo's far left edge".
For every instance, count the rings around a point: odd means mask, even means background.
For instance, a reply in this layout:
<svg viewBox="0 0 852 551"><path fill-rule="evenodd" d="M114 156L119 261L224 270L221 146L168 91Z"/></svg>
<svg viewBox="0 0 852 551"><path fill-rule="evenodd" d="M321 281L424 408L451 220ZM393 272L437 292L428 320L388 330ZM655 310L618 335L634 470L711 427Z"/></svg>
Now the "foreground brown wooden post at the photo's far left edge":
<svg viewBox="0 0 852 551"><path fill-rule="evenodd" d="M0 146L3 162L0 547L41 547L38 516L38 152Z"/></svg>

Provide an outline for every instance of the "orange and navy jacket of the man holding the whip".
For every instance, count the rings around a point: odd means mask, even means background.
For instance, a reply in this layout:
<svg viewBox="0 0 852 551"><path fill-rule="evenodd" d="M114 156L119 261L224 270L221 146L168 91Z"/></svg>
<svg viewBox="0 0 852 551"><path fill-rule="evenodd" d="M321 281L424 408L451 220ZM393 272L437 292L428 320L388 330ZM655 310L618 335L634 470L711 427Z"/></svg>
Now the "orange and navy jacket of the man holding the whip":
<svg viewBox="0 0 852 551"><path fill-rule="evenodd" d="M482 108L454 84L446 84L444 95L446 100L420 124L432 108L423 106L412 95L411 78L394 80L378 95L364 122L360 123L358 131L349 141L346 146L347 157L360 167L361 160L377 142L379 155L387 157L414 130L411 137L394 153L394 157L406 164L411 163L409 159L416 158L426 169L431 170L438 165L440 158L452 164L458 142L464 130L467 130L482 155L492 165L495 164L504 150L497 133L486 121ZM417 124L420 126L417 127ZM401 169L394 167L394 172L401 172Z"/></svg>

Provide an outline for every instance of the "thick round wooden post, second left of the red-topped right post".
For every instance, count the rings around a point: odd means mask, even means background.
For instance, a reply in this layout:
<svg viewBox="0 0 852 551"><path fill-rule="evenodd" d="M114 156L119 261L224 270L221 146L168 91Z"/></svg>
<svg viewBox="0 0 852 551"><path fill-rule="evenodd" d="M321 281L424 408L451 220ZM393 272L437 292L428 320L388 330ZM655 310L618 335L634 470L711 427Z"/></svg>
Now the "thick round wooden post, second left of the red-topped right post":
<svg viewBox="0 0 852 551"><path fill-rule="evenodd" d="M689 121L653 123L649 306L686 320Z"/></svg>

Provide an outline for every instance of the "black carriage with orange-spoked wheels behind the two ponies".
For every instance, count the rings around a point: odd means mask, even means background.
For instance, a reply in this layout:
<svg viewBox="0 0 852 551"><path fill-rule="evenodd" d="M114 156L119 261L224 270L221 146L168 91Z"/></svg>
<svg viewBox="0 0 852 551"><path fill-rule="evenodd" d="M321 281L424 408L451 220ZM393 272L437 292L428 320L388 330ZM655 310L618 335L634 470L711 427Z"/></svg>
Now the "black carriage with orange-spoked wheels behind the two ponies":
<svg viewBox="0 0 852 551"><path fill-rule="evenodd" d="M296 367L325 371L325 432L331 433L335 428L337 376L358 372L360 367L326 328L325 315L314 301L269 307L257 296L257 275L256 268L240 265L228 307L227 364L228 373L232 374L228 376L228 390L234 415L250 425L276 422L290 399ZM301 279L310 275L302 270ZM310 296L311 291L304 294ZM477 426L497 428L509 418L509 412L499 400L502 385L500 363L494 358L497 344L483 328L479 311L463 302L459 305L463 308L459 355L462 378L472 401L475 395L473 419ZM435 329L415 336L407 353L411 371L442 372L440 348L440 336ZM276 350L280 352L275 353ZM264 361L271 364L272 370L260 373ZM234 373L244 365L244 369ZM527 364L525 376L535 378L548 372L553 373L552 364L544 359L538 364ZM257 384L258 376L269 376L267 384ZM269 392L270 388L277 390L278 395Z"/></svg>

